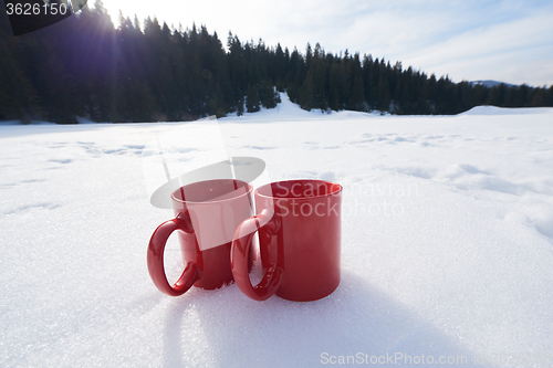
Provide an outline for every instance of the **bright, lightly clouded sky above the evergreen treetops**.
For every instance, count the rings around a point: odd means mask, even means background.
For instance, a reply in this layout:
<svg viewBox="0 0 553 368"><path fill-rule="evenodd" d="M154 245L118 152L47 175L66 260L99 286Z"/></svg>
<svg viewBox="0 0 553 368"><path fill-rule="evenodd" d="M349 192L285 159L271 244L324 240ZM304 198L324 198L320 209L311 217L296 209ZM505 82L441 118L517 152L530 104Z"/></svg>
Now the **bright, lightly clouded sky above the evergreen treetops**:
<svg viewBox="0 0 553 368"><path fill-rule="evenodd" d="M90 0L93 2L93 0ZM226 44L262 39L304 52L384 57L404 69L453 82L494 80L553 85L553 1L550 0L103 0L115 23L119 10L174 28L206 25Z"/></svg>

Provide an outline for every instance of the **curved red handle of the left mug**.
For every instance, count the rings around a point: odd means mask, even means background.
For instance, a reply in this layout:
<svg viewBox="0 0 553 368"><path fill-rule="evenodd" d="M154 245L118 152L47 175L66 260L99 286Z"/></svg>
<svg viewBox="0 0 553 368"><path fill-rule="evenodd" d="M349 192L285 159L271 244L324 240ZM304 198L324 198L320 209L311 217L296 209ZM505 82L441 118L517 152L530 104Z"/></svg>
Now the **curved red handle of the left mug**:
<svg viewBox="0 0 553 368"><path fill-rule="evenodd" d="M175 230L181 230L188 234L194 233L188 211L179 213L175 219L161 223L152 234L148 244L149 276L157 288L170 296L182 295L199 278L198 266L194 262L189 262L179 280L173 286L167 282L164 267L165 244Z"/></svg>

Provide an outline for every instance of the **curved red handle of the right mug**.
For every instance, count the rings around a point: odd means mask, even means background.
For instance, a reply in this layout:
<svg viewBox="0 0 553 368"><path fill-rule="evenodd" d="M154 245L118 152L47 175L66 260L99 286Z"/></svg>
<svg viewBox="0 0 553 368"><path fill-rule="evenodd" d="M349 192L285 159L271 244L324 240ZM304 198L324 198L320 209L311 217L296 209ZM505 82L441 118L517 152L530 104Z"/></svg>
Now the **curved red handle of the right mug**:
<svg viewBox="0 0 553 368"><path fill-rule="evenodd" d="M234 232L230 251L230 267L234 282L242 293L254 301L265 301L276 293L283 272L282 267L274 263L268 267L258 285L253 286L250 282L248 259L251 241L255 232L271 220L272 213L268 215L269 212L272 211L265 209L260 214L244 220Z"/></svg>

